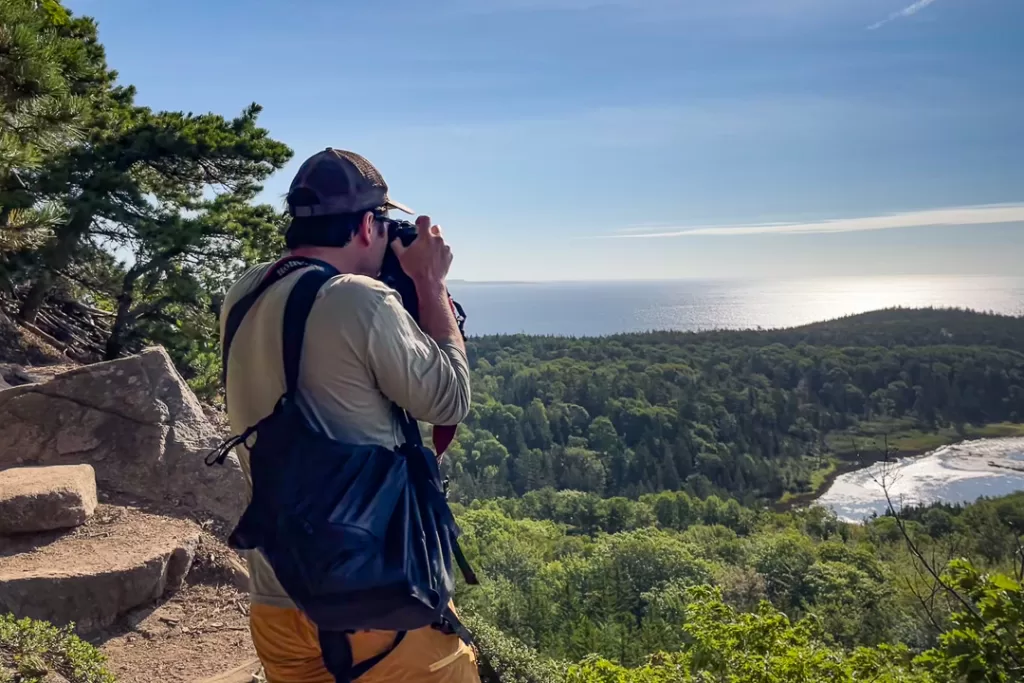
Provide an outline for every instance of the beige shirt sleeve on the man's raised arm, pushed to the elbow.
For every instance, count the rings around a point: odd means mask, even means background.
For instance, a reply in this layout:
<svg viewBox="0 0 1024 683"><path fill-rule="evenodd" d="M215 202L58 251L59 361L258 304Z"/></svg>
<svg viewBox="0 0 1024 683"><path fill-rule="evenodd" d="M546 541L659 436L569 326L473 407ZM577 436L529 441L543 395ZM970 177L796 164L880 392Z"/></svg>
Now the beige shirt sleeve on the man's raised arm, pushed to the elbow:
<svg viewBox="0 0 1024 683"><path fill-rule="evenodd" d="M438 344L388 294L374 313L367 357L377 386L413 418L454 425L469 414L469 360L453 342Z"/></svg>

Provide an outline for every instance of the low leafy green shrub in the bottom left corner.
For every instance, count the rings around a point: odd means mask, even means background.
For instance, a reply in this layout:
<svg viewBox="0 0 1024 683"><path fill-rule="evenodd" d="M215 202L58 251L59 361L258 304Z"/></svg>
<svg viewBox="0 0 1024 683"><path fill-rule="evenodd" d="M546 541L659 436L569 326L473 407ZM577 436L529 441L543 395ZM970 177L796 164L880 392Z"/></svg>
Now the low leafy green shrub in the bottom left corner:
<svg viewBox="0 0 1024 683"><path fill-rule="evenodd" d="M41 683L50 672L69 683L114 683L103 655L70 627L0 616L0 683Z"/></svg>

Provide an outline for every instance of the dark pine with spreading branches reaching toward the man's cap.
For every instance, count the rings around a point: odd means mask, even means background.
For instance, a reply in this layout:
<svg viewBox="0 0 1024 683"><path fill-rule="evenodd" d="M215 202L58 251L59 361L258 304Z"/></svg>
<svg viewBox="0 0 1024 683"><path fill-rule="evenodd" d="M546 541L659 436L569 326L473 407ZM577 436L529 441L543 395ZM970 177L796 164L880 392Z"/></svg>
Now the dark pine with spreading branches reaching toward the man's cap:
<svg viewBox="0 0 1024 683"><path fill-rule="evenodd" d="M97 240L130 248L146 261L145 272L131 273L134 279L115 296L130 293L142 275L167 282L173 274L170 259L222 232L210 221L185 220L181 212L210 210L204 196L211 190L249 199L291 158L287 145L257 126L260 111L253 103L226 120L215 114L154 114L127 98L112 102L103 128L90 130L86 143L44 168L41 183L67 198L69 219L43 253L45 268L29 290L22 317L34 319L55 275ZM240 202L234 207L242 210ZM220 208L213 207L215 213ZM267 210L255 211L266 217Z"/></svg>

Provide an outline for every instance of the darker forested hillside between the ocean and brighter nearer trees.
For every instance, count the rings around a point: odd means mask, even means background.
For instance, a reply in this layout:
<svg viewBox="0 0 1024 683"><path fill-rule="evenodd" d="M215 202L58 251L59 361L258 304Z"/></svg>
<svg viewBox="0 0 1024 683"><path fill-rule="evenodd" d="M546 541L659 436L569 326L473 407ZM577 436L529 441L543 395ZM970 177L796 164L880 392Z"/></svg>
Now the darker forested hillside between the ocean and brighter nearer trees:
<svg viewBox="0 0 1024 683"><path fill-rule="evenodd" d="M473 339L454 490L775 500L820 483L837 443L849 452L862 434L898 444L906 432L1019 422L1022 349L1024 319L957 310L771 332Z"/></svg>

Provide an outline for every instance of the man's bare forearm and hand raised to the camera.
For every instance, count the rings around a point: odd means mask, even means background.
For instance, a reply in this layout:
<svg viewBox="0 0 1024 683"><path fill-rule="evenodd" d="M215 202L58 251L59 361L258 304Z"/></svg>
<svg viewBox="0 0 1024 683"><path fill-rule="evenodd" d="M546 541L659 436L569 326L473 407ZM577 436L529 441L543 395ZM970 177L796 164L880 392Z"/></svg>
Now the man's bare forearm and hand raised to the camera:
<svg viewBox="0 0 1024 683"><path fill-rule="evenodd" d="M392 243L401 269L416 286L420 303L420 327L437 343L452 342L462 352L466 344L459 332L459 323L449 301L444 279L452 266L452 248L444 244L441 228L430 222L430 216L416 219L417 234L409 247L400 240Z"/></svg>

